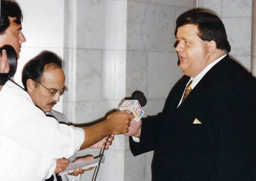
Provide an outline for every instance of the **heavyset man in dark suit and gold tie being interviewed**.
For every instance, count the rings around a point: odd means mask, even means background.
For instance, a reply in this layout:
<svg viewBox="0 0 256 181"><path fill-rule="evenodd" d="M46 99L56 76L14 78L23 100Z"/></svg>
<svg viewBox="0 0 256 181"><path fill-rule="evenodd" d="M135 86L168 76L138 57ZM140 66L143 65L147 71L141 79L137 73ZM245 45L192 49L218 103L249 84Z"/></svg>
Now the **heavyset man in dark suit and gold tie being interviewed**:
<svg viewBox="0 0 256 181"><path fill-rule="evenodd" d="M256 180L255 78L228 56L216 15L186 11L175 36L184 76L163 112L131 122L132 154L154 150L152 180Z"/></svg>

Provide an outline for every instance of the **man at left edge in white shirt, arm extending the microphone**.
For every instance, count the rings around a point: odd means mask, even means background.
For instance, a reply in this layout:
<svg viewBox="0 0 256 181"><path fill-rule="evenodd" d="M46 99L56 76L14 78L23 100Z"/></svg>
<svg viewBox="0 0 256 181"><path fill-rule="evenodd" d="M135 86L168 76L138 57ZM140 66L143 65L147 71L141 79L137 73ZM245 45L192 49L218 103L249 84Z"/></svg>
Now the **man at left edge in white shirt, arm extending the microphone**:
<svg viewBox="0 0 256 181"><path fill-rule="evenodd" d="M19 4L1 0L0 47L12 45L18 58L21 44L26 41L21 22ZM4 50L0 58L0 73L8 73ZM58 94L63 88L58 87ZM1 180L45 180L56 168L56 159L68 158L109 134L126 133L134 118L129 113L115 112L90 127L70 127L46 117L15 82L3 81L0 89Z"/></svg>

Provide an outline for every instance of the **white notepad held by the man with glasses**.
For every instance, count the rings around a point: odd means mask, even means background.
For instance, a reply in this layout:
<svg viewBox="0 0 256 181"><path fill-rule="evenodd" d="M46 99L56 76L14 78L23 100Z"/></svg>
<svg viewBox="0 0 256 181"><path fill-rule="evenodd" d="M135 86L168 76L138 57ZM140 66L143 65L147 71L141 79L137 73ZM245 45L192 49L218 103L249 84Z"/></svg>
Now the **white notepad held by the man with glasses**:
<svg viewBox="0 0 256 181"><path fill-rule="evenodd" d="M71 173L71 172L73 172L74 169L78 169L80 167L83 169L86 169L86 168L90 168L93 166L98 166L99 161L100 161L100 157L98 157L97 159L93 159L91 161L81 161L81 162L77 162L77 163L70 163L68 165L68 167L66 168L66 170L62 171L60 173L60 175L67 174L68 172ZM105 161L105 156L102 157L100 164L103 164L104 161Z"/></svg>

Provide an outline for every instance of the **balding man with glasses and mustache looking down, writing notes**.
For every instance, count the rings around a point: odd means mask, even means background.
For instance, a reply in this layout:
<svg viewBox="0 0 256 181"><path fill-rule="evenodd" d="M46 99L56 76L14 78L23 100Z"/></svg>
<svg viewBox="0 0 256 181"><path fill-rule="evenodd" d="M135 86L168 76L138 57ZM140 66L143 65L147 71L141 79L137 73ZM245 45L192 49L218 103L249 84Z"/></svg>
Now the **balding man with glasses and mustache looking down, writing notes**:
<svg viewBox="0 0 256 181"><path fill-rule="evenodd" d="M40 108L48 116L54 117L59 122L67 124L67 118L60 112L52 110L52 107L60 101L60 96L63 96L68 88L64 85L65 75L62 69L62 61L60 57L52 52L44 51L35 58L28 61L22 70L22 83L25 91L28 92L33 103ZM109 143L111 144L111 137ZM102 140L104 141L104 140ZM99 143L100 145L100 143ZM94 145L96 147L96 145ZM91 147L93 148L93 147ZM72 160L76 159L76 156L72 156ZM76 159L77 161L86 161L93 159L93 157L81 157ZM69 164L68 159L57 159L57 166L54 170L54 175L47 181L54 180L79 180L84 172L82 168L77 171L74 169L74 175L63 175L62 178L58 176L58 173L65 170ZM77 176L78 175L78 176ZM76 177L77 176L77 177Z"/></svg>

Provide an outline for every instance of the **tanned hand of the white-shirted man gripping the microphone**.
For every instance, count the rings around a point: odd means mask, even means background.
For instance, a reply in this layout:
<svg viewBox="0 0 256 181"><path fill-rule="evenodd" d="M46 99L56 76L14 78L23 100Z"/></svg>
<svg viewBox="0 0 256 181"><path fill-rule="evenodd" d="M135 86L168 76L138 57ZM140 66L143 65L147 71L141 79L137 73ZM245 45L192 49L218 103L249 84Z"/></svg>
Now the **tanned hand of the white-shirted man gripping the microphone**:
<svg viewBox="0 0 256 181"><path fill-rule="evenodd" d="M106 119L108 128L112 134L124 134L129 131L130 121L134 119L132 113L114 112Z"/></svg>

